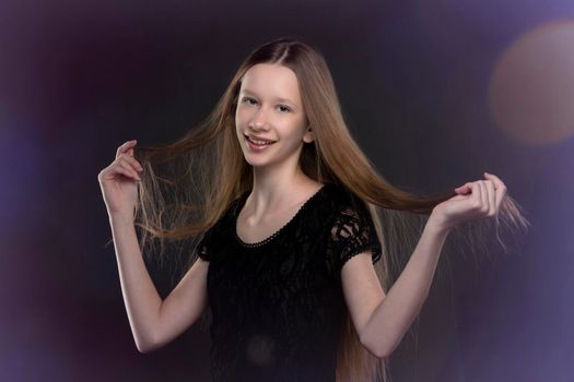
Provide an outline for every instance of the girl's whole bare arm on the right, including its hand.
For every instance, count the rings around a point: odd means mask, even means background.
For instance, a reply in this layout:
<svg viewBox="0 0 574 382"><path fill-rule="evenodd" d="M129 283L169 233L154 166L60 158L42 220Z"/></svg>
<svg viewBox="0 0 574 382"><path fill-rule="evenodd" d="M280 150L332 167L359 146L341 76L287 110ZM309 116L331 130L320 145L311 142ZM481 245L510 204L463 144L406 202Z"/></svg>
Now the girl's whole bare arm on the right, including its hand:
<svg viewBox="0 0 574 382"><path fill-rule="evenodd" d="M421 310L450 228L499 214L506 186L494 175L484 172L484 177L487 180L455 189L455 196L433 208L411 259L388 296L378 284L368 252L343 266L343 290L355 330L361 343L375 356L388 357Z"/></svg>

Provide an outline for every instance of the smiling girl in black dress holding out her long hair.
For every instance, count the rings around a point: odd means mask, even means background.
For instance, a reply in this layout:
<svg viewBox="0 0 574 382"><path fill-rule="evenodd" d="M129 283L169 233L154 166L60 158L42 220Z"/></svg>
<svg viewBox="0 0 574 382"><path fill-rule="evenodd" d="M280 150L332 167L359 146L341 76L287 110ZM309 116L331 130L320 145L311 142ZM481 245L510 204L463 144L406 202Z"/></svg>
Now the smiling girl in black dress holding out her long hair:
<svg viewBox="0 0 574 382"><path fill-rule="evenodd" d="M181 140L136 144L98 175L136 345L156 349L209 313L213 381L385 379L449 232L527 225L494 175L434 199L389 184L351 138L325 59L294 39L254 50ZM422 235L407 212L427 217ZM140 247L188 238L190 266L162 300Z"/></svg>

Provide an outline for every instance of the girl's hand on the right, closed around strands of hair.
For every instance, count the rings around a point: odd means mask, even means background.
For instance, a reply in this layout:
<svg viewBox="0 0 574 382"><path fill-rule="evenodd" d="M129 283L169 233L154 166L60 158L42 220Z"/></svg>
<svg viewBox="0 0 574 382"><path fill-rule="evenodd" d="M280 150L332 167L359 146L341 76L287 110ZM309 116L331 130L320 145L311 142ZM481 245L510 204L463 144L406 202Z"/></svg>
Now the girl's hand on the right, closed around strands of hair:
<svg viewBox="0 0 574 382"><path fill-rule="evenodd" d="M496 176L484 172L487 180L477 180L455 189L457 195L437 204L431 218L443 229L483 217L496 216L506 186Z"/></svg>

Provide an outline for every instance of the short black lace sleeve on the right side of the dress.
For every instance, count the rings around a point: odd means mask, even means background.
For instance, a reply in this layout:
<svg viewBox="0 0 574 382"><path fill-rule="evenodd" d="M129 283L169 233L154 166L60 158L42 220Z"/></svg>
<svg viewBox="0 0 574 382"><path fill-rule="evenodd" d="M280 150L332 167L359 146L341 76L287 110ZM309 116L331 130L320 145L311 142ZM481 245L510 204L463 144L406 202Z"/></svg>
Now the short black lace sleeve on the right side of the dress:
<svg viewBox="0 0 574 382"><path fill-rule="evenodd" d="M359 201L341 206L329 222L326 246L327 268L338 278L351 258L371 250L373 264L380 259L380 242L366 205Z"/></svg>

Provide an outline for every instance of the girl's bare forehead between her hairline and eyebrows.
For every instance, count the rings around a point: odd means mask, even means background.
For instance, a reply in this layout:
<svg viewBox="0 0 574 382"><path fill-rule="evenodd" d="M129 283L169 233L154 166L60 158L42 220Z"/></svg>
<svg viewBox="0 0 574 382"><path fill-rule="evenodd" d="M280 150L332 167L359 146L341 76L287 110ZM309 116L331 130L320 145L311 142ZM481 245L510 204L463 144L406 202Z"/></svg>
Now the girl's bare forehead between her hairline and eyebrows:
<svg viewBox="0 0 574 382"><path fill-rule="evenodd" d="M255 92L260 97L289 98L301 103L298 82L291 69L270 63L258 63L245 72L241 91Z"/></svg>

